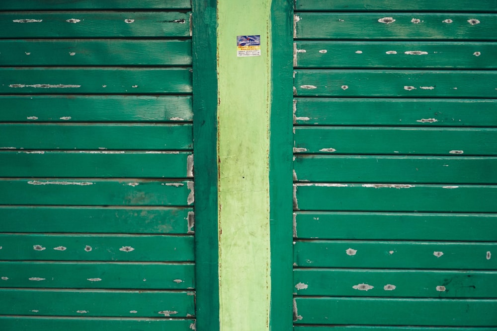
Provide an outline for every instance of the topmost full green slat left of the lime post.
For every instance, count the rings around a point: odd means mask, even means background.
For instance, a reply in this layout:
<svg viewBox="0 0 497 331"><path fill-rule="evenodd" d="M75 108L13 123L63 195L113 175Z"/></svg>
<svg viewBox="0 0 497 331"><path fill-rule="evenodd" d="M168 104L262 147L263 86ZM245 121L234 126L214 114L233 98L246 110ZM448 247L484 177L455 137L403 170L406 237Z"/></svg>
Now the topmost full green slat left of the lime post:
<svg viewBox="0 0 497 331"><path fill-rule="evenodd" d="M189 37L190 13L170 11L0 12L2 38Z"/></svg>

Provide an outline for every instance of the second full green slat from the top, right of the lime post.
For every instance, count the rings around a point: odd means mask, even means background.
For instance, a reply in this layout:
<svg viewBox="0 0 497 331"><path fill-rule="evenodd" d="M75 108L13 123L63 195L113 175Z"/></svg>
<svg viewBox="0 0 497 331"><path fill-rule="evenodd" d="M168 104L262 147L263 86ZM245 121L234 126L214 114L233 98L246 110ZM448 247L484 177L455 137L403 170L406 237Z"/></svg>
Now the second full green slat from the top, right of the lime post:
<svg viewBox="0 0 497 331"><path fill-rule="evenodd" d="M387 53L392 51L396 54ZM483 42L301 41L294 66L491 69L497 66L496 51L496 43Z"/></svg>

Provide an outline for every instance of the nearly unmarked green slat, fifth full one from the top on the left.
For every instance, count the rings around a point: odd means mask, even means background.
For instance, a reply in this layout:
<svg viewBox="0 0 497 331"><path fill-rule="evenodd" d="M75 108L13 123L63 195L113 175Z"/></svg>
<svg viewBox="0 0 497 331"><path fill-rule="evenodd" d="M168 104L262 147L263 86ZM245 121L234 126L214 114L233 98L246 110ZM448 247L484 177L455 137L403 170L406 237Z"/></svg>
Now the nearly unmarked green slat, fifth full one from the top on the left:
<svg viewBox="0 0 497 331"><path fill-rule="evenodd" d="M191 124L0 124L0 149L184 150L192 140Z"/></svg>

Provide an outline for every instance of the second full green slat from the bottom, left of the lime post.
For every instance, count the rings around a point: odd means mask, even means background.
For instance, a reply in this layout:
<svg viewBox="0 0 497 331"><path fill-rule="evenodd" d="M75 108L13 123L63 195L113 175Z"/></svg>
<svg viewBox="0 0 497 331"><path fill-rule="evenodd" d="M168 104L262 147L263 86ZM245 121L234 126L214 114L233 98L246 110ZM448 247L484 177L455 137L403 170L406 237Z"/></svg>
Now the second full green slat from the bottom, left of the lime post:
<svg viewBox="0 0 497 331"><path fill-rule="evenodd" d="M194 287L192 264L1 262L1 286L180 290ZM33 281L29 278L44 278Z"/></svg>

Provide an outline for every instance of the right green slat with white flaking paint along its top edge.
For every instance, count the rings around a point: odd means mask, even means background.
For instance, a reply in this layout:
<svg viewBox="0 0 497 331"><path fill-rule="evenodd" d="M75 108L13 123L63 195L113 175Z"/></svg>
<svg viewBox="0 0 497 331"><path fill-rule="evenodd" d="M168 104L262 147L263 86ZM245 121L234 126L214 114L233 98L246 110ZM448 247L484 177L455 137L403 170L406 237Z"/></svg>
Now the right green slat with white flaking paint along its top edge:
<svg viewBox="0 0 497 331"><path fill-rule="evenodd" d="M297 184L297 210L496 212L497 186Z"/></svg>

